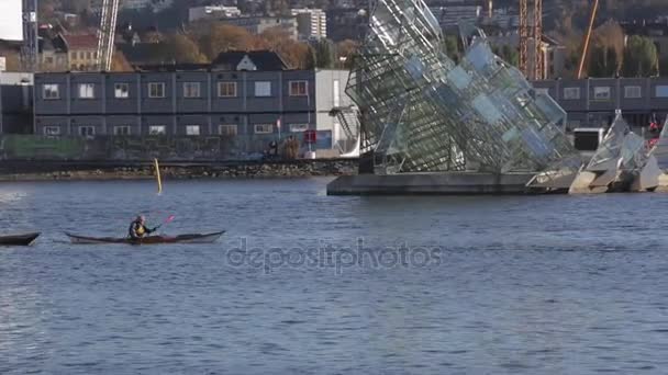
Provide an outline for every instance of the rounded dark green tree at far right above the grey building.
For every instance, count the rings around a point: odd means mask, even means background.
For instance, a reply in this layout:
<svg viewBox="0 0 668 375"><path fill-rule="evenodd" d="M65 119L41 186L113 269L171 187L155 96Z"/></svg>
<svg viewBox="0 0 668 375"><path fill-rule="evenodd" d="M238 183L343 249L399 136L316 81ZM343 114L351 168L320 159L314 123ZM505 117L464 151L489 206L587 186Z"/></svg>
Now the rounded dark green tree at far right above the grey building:
<svg viewBox="0 0 668 375"><path fill-rule="evenodd" d="M658 75L656 45L645 36L633 35L624 50L622 73L624 77L650 77Z"/></svg>

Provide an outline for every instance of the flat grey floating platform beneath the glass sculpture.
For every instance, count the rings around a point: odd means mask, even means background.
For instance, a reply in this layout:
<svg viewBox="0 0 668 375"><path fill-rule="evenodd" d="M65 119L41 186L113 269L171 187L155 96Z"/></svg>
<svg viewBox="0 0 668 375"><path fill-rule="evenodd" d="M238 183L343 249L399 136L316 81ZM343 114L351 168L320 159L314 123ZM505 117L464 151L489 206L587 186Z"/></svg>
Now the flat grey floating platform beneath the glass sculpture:
<svg viewBox="0 0 668 375"><path fill-rule="evenodd" d="M398 173L343 175L327 184L327 195L493 195L535 193L526 188L534 173Z"/></svg>

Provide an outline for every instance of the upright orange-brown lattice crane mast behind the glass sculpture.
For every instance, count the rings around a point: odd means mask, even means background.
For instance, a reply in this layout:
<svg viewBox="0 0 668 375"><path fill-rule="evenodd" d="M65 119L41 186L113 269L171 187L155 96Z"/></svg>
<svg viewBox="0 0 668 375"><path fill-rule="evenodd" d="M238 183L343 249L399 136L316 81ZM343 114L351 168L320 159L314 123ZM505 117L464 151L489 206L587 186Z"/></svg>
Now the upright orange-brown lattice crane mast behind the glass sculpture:
<svg viewBox="0 0 668 375"><path fill-rule="evenodd" d="M543 41L543 0L533 1L533 22L528 22L530 0L520 0L520 70L528 79L545 79L545 58L541 44ZM530 54L530 42L533 41ZM531 58L531 60L530 60Z"/></svg>

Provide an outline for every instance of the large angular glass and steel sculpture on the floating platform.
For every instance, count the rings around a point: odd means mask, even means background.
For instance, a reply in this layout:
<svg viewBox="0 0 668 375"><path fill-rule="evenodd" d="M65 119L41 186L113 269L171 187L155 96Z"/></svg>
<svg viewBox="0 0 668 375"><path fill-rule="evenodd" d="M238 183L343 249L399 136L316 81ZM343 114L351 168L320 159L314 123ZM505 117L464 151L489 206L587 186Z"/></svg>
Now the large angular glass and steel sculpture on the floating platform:
<svg viewBox="0 0 668 375"><path fill-rule="evenodd" d="M566 113L496 56L485 34L465 31L459 64L422 0L372 0L347 94L361 112L361 152L377 173L577 172L563 133ZM549 174L546 174L549 179Z"/></svg>

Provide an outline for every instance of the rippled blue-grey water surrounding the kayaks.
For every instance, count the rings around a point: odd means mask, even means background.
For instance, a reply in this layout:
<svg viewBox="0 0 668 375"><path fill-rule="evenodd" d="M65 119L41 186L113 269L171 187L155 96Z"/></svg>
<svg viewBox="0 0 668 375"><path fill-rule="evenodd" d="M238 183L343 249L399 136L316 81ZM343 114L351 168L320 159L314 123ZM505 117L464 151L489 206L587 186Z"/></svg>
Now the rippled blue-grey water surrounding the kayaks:
<svg viewBox="0 0 668 375"><path fill-rule="evenodd" d="M667 194L329 197L327 180L4 183L1 374L668 368ZM144 212L215 245L73 246Z"/></svg>

